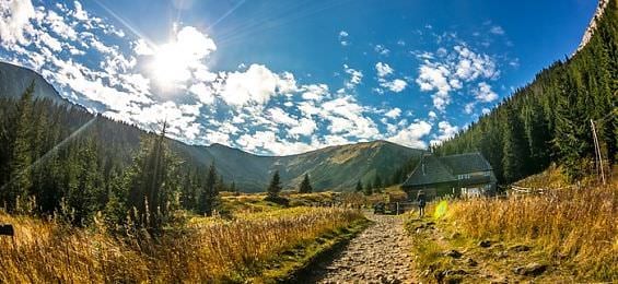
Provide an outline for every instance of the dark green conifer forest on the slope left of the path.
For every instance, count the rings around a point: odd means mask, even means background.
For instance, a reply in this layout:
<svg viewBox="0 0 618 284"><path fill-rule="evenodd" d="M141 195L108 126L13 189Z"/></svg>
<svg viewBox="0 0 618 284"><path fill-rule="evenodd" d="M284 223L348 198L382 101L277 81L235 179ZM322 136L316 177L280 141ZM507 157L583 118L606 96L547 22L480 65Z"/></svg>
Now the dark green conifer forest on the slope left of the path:
<svg viewBox="0 0 618 284"><path fill-rule="evenodd" d="M214 165L173 154L165 123L140 131L33 98L33 90L19 100L0 98L0 202L7 211L56 215L78 226L103 212L109 225L158 228L176 209L210 215L218 192L229 190Z"/></svg>

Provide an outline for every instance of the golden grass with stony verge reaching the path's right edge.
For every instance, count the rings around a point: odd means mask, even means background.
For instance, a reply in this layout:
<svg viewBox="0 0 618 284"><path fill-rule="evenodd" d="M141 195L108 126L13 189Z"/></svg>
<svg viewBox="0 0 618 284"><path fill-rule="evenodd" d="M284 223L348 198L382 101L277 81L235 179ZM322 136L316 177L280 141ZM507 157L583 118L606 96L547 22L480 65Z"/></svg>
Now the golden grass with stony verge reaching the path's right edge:
<svg viewBox="0 0 618 284"><path fill-rule="evenodd" d="M410 216L407 229L432 281L618 280L616 185L448 202L441 217ZM447 256L453 249L462 256ZM532 264L543 272L524 275L521 268Z"/></svg>

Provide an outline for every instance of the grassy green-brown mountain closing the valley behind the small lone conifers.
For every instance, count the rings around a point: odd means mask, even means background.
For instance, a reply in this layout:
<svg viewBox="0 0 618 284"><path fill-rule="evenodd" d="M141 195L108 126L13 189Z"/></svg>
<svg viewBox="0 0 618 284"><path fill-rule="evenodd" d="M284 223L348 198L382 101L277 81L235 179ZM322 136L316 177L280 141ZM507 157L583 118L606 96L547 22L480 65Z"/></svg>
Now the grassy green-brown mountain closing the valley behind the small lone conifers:
<svg viewBox="0 0 618 284"><path fill-rule="evenodd" d="M308 174L317 190L352 189L358 180L373 182L376 175L389 180L393 173L423 150L409 149L386 141L329 146L290 156L259 156L221 144L203 147L218 168L232 174L232 179L250 191L263 190L275 170L279 170L284 188L296 188Z"/></svg>

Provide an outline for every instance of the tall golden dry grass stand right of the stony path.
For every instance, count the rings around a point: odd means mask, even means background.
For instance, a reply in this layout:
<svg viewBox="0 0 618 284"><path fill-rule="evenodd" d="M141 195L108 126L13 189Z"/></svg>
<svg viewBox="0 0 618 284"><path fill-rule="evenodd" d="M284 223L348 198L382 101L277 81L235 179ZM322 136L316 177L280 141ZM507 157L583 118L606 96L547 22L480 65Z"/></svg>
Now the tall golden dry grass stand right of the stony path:
<svg viewBox="0 0 618 284"><path fill-rule="evenodd" d="M618 185L450 205L446 220L476 239L534 244L576 279L618 280Z"/></svg>

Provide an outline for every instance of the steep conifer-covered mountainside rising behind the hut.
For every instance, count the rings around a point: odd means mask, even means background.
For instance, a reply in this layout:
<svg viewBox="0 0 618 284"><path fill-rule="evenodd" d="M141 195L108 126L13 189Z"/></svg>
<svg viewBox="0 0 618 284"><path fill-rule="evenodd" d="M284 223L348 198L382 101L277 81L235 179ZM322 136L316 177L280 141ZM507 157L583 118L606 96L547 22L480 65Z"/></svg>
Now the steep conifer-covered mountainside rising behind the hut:
<svg viewBox="0 0 618 284"><path fill-rule="evenodd" d="M434 151L480 151L502 184L551 163L572 180L596 175L600 166L611 173L618 166L618 0L599 1L571 58L540 71Z"/></svg>

